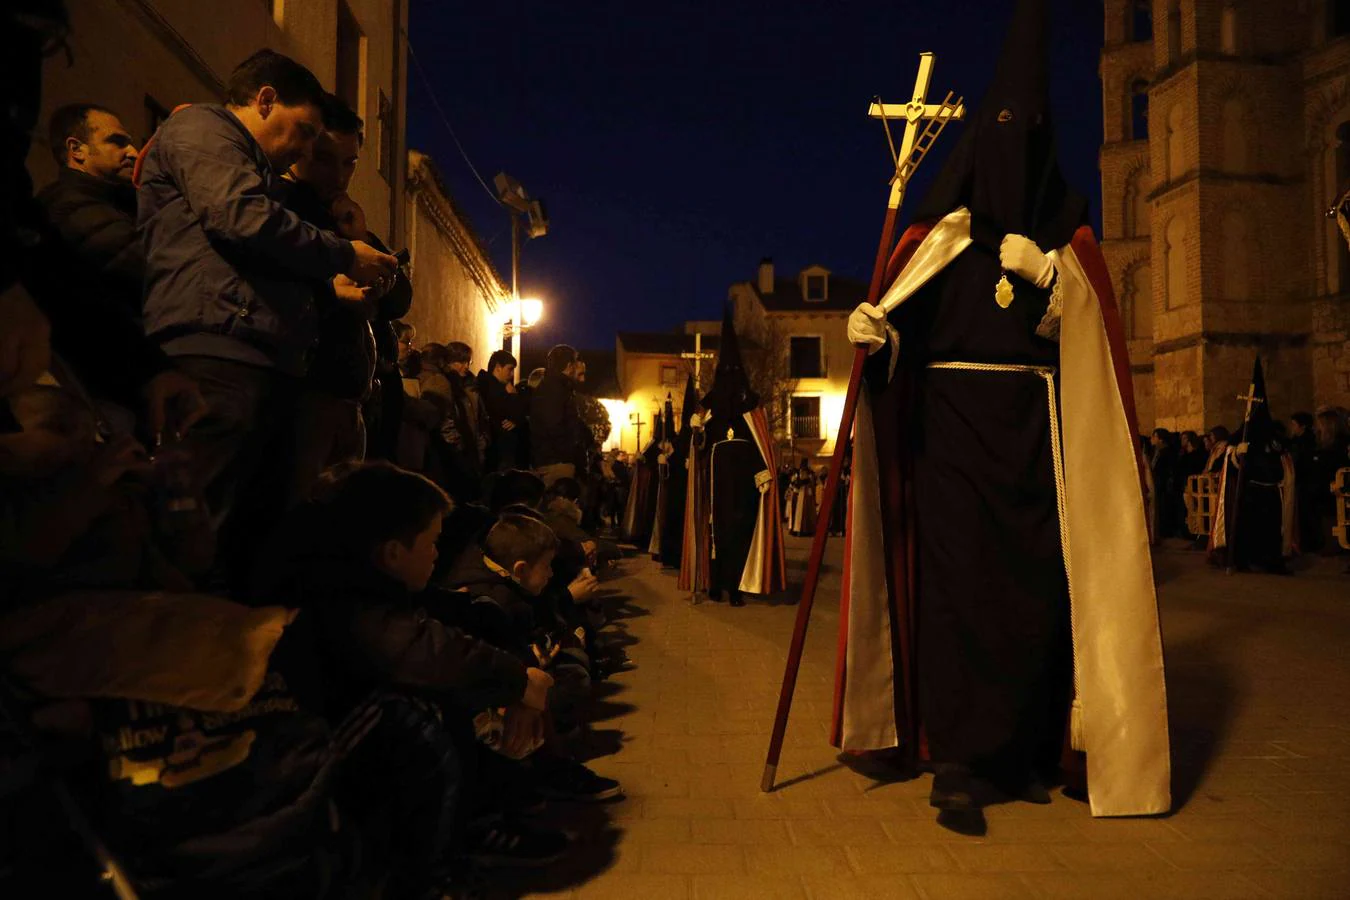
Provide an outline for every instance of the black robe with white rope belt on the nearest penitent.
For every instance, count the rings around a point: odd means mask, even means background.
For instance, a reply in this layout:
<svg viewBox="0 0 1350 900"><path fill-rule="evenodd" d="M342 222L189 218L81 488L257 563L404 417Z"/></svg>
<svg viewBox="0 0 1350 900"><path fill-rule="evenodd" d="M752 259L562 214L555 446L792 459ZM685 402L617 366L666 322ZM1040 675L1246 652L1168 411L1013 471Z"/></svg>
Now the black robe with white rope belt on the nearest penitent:
<svg viewBox="0 0 1350 900"><path fill-rule="evenodd" d="M1072 698L1068 582L1045 381L929 363L1056 366L1049 293L973 244L891 316L915 386L918 700L934 762L1049 766ZM884 355L879 355L884 356ZM891 424L879 424L894 426ZM996 761L996 762L995 762Z"/></svg>

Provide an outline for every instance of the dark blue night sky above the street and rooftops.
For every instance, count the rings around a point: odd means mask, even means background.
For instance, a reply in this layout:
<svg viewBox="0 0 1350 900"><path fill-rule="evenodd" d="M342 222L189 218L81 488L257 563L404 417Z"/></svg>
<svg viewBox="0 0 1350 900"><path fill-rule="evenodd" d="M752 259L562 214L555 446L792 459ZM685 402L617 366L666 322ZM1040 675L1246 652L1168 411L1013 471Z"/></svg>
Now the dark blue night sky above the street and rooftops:
<svg viewBox="0 0 1350 900"><path fill-rule="evenodd" d="M1065 174L1100 204L1102 5L1056 0L1054 109ZM526 341L613 348L614 332L717 318L761 256L867 281L890 158L873 94L905 103L918 54L933 90L975 104L1011 0L412 0L409 34L483 178L541 197L551 232L525 246ZM502 208L455 148L409 67L412 147L436 159L510 275ZM922 198L952 125L911 186ZM1095 217L1099 213L1095 210Z"/></svg>

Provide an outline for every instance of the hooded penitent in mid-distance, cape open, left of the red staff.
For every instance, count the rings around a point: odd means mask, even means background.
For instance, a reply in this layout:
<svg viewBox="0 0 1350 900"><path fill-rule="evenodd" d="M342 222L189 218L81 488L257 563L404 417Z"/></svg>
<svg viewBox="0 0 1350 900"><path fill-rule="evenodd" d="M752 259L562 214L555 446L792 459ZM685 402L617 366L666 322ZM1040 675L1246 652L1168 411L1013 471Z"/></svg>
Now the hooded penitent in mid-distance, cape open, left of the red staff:
<svg viewBox="0 0 1350 900"><path fill-rule="evenodd" d="M709 464L709 590L774 594L786 584L783 522L768 417L751 387L728 306L707 410L705 451ZM686 551L687 552L687 551Z"/></svg>

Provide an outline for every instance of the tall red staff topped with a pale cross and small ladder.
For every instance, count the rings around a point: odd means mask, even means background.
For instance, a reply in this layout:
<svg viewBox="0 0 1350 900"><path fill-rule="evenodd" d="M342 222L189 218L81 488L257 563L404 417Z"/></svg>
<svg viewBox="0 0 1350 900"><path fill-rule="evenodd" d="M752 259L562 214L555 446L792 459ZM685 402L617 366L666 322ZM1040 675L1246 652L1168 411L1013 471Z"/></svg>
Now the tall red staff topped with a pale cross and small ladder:
<svg viewBox="0 0 1350 900"><path fill-rule="evenodd" d="M872 283L867 291L867 302L876 304L882 296L882 282L886 278L886 263L895 243L895 221L905 189L910 178L933 148L938 135L953 119L965 117L965 107L960 97L948 92L941 104L927 101L929 82L933 80L932 53L919 54L919 73L914 80L914 94L905 105L890 105L876 100L868 115L880 119L886 125L886 138L891 144L895 174L891 177L891 197L886 204L886 220L882 224L882 242L876 248L876 262L872 266ZM891 119L905 119L905 136L896 150L891 139ZM778 773L778 760L783 752L783 735L787 733L787 714L792 708L792 692L796 690L796 675L802 667L802 648L806 645L806 626L811 619L811 606L815 603L815 586L821 579L821 563L825 560L825 542L829 538L830 514L834 511L834 498L838 495L840 475L844 471L844 456L853 436L853 416L857 412L859 389L863 385L863 363L867 362L867 348L859 347L853 356L853 372L849 375L848 393L844 395L844 414L834 433L834 456L830 460L830 475L825 482L825 498L815 519L815 538L811 541L811 556L806 565L806 583L802 586L802 600L796 606L796 625L792 630L792 644L787 652L787 668L783 672L783 688L778 695L778 712L774 718L774 733L770 737L768 758L764 761L761 791L774 789L774 776Z"/></svg>

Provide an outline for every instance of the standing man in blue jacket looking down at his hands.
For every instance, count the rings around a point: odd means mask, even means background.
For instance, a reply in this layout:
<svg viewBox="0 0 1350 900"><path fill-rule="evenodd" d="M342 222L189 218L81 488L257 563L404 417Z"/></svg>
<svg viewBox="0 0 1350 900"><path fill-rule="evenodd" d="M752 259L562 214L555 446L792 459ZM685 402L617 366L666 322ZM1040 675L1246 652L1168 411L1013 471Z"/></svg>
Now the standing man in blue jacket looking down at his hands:
<svg viewBox="0 0 1350 900"><path fill-rule="evenodd" d="M398 266L282 204L281 174L309 154L324 109L313 73L259 50L231 73L225 105L180 109L139 162L146 333L211 406L182 447L234 583L247 576L259 524L288 494L290 418L317 328L315 282L343 274L373 285Z"/></svg>

